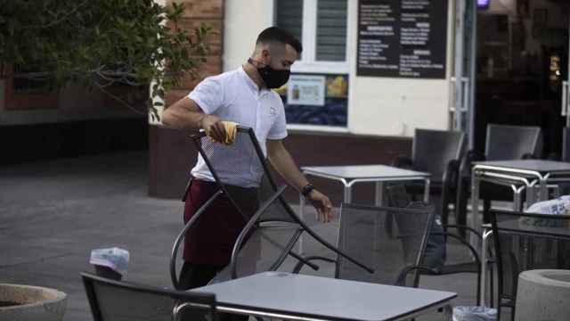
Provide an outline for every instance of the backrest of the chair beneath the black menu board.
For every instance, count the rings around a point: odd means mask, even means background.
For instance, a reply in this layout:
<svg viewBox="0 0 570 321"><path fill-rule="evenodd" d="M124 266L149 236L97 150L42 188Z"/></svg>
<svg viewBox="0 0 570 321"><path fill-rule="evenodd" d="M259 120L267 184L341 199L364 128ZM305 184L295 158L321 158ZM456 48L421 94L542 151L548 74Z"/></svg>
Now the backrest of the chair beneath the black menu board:
<svg viewBox="0 0 570 321"><path fill-rule="evenodd" d="M411 148L413 169L443 177L449 161L460 161L465 134L446 130L416 129Z"/></svg>

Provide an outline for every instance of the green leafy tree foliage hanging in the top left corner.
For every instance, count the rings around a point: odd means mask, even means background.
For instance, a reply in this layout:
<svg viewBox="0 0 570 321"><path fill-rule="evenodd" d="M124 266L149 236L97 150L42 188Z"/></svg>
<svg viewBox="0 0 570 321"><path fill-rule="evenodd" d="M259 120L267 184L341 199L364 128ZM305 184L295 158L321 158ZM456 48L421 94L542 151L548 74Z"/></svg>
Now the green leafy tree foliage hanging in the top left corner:
<svg viewBox="0 0 570 321"><path fill-rule="evenodd" d="M205 25L179 28L182 4L154 0L0 0L0 78L108 88L151 88L151 97L195 77L208 53ZM10 73L6 66L23 66ZM151 114L158 118L151 104Z"/></svg>

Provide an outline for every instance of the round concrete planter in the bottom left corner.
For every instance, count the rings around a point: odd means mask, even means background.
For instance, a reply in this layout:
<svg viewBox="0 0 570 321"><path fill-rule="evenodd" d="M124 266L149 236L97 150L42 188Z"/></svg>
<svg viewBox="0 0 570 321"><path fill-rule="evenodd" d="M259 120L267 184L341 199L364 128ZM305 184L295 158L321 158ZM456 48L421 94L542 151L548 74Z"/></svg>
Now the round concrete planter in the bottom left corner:
<svg viewBox="0 0 570 321"><path fill-rule="evenodd" d="M67 294L39 286L0 284L0 301L19 303L0 307L0 321L61 321Z"/></svg>

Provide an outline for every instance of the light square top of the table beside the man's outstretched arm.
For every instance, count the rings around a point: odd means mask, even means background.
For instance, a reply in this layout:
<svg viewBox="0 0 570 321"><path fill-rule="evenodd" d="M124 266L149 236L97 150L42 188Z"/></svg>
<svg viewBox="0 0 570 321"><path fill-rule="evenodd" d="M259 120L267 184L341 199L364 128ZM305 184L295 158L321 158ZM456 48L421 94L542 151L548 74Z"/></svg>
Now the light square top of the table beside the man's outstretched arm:
<svg viewBox="0 0 570 321"><path fill-rule="evenodd" d="M329 176L346 179L406 179L430 177L431 174L387 165L307 166L301 168L314 176Z"/></svg>

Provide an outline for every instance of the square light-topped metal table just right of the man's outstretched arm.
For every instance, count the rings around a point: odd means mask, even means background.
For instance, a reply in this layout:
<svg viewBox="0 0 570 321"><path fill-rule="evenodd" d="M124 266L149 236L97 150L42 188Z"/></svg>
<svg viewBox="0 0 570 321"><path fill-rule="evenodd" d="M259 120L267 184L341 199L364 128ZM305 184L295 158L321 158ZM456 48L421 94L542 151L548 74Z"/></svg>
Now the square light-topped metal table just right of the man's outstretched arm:
<svg viewBox="0 0 570 321"><path fill-rule="evenodd" d="M376 183L375 204L383 204L384 182L413 181L424 182L424 202L429 201L429 177L431 174L410 169L400 169L387 165L348 165L302 167L305 176L323 177L341 182L344 185L343 202L352 201L352 187L357 183ZM299 195L299 217L304 218L305 197ZM303 252L303 239L299 238L299 252Z"/></svg>

